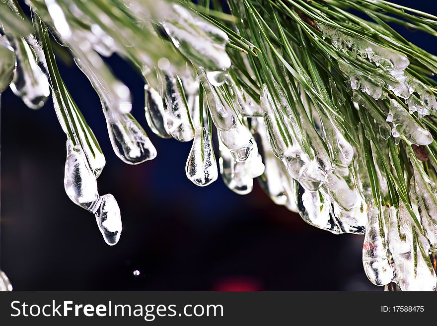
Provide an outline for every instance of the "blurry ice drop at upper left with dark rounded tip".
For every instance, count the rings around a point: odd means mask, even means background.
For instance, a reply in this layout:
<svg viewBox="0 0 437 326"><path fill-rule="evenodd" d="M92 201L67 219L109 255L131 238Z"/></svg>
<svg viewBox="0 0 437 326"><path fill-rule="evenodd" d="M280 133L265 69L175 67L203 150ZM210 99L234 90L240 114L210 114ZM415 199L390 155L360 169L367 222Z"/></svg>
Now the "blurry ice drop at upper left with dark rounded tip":
<svg viewBox="0 0 437 326"><path fill-rule="evenodd" d="M35 55L23 38L14 39L17 69L10 88L31 109L39 109L50 95L47 76L38 66Z"/></svg>

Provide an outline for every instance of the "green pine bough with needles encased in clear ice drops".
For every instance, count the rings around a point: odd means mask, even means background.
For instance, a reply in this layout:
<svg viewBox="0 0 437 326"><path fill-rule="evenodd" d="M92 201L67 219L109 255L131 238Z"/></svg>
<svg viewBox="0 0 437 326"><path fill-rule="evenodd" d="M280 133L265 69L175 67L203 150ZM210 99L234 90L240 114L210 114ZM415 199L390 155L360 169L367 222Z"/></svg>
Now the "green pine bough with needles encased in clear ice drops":
<svg viewBox="0 0 437 326"><path fill-rule="evenodd" d="M373 284L436 291L437 57L392 22L435 36L437 17L378 0L195 2L0 1L0 93L10 87L31 109L51 94L65 191L104 241L119 241L123 209L98 191L106 161L80 111L97 108L74 102L54 42L98 94L123 162L154 159L155 136L192 141L194 185L220 176L247 195L258 182L308 224L363 235ZM114 54L143 79L146 128L105 62ZM0 289L11 290L3 272Z"/></svg>

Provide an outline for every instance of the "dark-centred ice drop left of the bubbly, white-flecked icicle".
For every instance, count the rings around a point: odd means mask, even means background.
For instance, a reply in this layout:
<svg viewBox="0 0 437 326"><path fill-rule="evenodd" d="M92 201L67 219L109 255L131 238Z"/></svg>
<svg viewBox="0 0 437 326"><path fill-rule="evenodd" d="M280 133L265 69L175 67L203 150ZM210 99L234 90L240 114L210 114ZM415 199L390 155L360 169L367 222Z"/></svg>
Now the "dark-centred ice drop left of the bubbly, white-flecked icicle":
<svg viewBox="0 0 437 326"><path fill-rule="evenodd" d="M164 120L164 104L159 93L150 85L144 85L146 105L144 107L146 121L154 134L161 138L170 138L166 122Z"/></svg>

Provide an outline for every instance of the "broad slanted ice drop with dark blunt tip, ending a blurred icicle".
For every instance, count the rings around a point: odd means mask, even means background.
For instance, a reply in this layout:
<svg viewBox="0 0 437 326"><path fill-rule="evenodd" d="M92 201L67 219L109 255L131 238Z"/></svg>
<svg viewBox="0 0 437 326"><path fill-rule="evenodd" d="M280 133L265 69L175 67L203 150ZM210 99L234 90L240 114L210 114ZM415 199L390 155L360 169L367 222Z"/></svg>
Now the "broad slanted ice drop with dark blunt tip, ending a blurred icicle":
<svg viewBox="0 0 437 326"><path fill-rule="evenodd" d="M130 114L106 114L109 135L117 156L125 163L140 164L156 157L146 131Z"/></svg>

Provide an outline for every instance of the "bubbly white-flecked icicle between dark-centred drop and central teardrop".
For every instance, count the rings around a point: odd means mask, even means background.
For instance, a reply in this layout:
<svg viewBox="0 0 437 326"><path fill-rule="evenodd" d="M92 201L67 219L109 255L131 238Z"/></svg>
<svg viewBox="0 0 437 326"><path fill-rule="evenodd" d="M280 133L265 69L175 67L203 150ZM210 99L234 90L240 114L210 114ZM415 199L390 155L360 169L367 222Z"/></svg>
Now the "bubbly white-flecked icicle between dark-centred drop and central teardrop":
<svg viewBox="0 0 437 326"><path fill-rule="evenodd" d="M164 119L171 136L179 141L190 141L194 138L194 127L190 117L182 82L177 75L165 74Z"/></svg>

